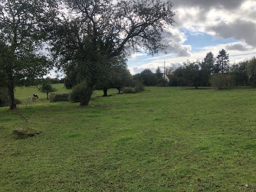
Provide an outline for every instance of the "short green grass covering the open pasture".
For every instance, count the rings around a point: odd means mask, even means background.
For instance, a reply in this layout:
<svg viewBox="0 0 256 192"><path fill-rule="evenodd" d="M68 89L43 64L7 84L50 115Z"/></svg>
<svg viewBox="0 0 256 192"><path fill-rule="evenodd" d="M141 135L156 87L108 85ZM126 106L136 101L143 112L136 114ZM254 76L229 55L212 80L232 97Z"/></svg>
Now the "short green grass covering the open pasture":
<svg viewBox="0 0 256 192"><path fill-rule="evenodd" d="M19 106L28 122L0 108L0 191L256 191L256 89L116 93L87 107L39 94Z"/></svg>

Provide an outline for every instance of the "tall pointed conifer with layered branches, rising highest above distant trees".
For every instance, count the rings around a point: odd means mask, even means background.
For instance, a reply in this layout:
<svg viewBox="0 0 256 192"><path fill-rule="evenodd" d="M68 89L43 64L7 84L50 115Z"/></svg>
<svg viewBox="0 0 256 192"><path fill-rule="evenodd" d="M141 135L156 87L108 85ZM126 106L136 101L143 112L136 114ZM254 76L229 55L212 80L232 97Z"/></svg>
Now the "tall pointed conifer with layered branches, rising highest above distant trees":
<svg viewBox="0 0 256 192"><path fill-rule="evenodd" d="M222 49L216 57L214 73L227 73L229 70L229 55L226 50Z"/></svg>

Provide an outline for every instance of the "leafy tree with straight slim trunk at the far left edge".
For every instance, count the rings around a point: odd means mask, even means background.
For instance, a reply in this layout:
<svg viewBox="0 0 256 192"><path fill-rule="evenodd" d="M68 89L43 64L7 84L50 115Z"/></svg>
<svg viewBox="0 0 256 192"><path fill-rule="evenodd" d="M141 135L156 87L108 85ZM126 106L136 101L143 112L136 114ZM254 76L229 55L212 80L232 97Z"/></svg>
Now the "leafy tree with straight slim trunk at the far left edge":
<svg viewBox="0 0 256 192"><path fill-rule="evenodd" d="M0 0L0 73L10 109L16 108L14 87L33 84L51 67L40 50L54 8L51 0Z"/></svg>

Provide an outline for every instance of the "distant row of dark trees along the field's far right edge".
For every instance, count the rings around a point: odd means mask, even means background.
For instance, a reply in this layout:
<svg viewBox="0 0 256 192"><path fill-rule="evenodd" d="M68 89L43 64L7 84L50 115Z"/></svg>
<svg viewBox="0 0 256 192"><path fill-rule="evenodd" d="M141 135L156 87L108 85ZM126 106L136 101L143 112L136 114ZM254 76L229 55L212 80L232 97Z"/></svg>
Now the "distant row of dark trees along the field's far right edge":
<svg viewBox="0 0 256 192"><path fill-rule="evenodd" d="M145 86L256 86L256 58L230 65L229 54L222 49L216 57L208 52L202 61L187 60L177 67L171 66L166 76L169 82L164 81L158 67L155 73L146 69L133 78Z"/></svg>

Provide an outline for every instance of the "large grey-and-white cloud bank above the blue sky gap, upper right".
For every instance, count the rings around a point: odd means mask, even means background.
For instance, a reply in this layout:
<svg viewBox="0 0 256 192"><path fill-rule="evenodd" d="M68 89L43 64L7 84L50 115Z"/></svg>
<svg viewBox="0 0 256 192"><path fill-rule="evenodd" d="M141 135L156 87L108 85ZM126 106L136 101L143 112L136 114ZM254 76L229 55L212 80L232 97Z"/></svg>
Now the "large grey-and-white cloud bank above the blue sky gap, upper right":
<svg viewBox="0 0 256 192"><path fill-rule="evenodd" d="M256 0L174 0L176 28L256 47Z"/></svg>

